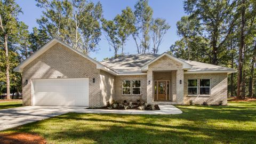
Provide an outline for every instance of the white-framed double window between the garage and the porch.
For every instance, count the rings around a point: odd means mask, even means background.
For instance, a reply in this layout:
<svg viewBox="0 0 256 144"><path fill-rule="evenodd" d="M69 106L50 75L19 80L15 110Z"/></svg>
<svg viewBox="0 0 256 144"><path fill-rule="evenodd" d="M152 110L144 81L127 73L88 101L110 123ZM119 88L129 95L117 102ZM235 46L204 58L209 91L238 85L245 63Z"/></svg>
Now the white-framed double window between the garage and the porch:
<svg viewBox="0 0 256 144"><path fill-rule="evenodd" d="M141 81L123 81L123 95L140 95Z"/></svg>

